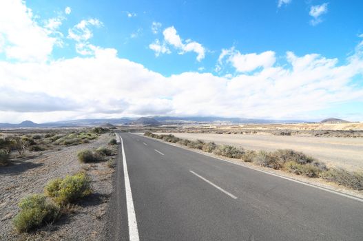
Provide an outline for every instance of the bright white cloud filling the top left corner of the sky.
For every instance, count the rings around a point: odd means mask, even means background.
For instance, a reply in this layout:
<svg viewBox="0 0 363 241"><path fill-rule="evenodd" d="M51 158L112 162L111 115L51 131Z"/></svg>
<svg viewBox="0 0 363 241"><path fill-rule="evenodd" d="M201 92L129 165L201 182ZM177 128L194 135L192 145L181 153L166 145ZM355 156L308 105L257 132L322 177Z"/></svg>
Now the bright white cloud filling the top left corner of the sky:
<svg viewBox="0 0 363 241"><path fill-rule="evenodd" d="M46 61L56 43L21 0L0 1L0 35L6 57L19 61Z"/></svg>

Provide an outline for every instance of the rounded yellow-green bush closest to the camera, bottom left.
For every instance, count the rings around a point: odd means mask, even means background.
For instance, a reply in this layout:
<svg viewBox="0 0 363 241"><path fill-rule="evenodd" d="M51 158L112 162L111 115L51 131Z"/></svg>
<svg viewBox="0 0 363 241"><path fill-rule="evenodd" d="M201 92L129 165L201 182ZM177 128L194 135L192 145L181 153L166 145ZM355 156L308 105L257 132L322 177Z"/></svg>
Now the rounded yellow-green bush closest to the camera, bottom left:
<svg viewBox="0 0 363 241"><path fill-rule="evenodd" d="M42 194L32 194L19 202L21 211L13 219L15 229L28 232L59 218L59 207Z"/></svg>

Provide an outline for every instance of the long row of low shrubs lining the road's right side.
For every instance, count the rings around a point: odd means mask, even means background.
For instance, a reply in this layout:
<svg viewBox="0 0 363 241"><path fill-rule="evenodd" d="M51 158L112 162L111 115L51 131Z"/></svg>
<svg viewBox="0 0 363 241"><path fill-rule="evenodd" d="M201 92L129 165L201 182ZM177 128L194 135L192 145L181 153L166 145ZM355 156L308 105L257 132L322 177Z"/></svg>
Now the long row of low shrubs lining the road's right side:
<svg viewBox="0 0 363 241"><path fill-rule="evenodd" d="M253 151L231 145L216 145L205 143L203 140L187 140L178 138L172 134L153 134L145 132L144 136L165 140L170 143L178 143L189 148L200 149L218 156L242 160L246 163L254 163L262 167L288 171L292 174L309 178L322 178L328 182L342 185L358 191L363 190L363 174L347 171L345 169L328 168L326 165L311 156L291 149L278 149L277 151Z"/></svg>

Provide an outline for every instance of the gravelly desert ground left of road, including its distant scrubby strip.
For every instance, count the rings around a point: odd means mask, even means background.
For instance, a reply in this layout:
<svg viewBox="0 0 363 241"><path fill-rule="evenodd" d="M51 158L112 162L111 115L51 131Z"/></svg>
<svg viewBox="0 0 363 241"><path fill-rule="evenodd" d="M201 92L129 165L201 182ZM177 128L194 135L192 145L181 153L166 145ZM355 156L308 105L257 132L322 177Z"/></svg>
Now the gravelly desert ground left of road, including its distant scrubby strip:
<svg viewBox="0 0 363 241"><path fill-rule="evenodd" d="M117 151L116 145L107 144L113 138L112 133L95 134L90 128L24 129L0 135L25 136L35 141L23 155L12 151L10 163L0 166L0 240L101 240L114 173L107 159L114 160ZM34 151L34 147L39 149ZM112 156L98 163L78 160L79 151L94 151L98 147L111 149ZM79 171L92 180L90 196L67 206L66 213L54 223L29 233L14 230L12 220L19 213L18 203L22 198L43 193L50 180Z"/></svg>

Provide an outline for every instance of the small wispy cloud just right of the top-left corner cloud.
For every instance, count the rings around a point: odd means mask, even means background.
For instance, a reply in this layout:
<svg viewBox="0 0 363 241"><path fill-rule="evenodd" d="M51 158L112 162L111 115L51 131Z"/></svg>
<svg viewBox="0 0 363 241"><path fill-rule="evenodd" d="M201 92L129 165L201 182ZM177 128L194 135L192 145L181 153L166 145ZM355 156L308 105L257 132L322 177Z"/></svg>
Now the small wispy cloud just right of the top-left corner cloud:
<svg viewBox="0 0 363 241"><path fill-rule="evenodd" d="M83 19L68 30L68 39L76 41L76 52L82 55L94 54L98 47L89 42L93 36L91 27L100 27L102 25L103 23L98 19Z"/></svg>

